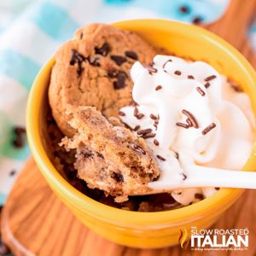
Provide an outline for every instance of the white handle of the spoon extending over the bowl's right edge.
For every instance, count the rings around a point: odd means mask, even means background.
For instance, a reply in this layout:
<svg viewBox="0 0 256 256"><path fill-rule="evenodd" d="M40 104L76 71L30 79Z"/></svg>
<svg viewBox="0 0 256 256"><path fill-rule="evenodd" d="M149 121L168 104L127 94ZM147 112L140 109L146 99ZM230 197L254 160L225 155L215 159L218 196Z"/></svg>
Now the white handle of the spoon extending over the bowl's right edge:
<svg viewBox="0 0 256 256"><path fill-rule="evenodd" d="M256 189L256 172L224 171L217 168L207 168L206 171L204 167L196 166L182 187Z"/></svg>

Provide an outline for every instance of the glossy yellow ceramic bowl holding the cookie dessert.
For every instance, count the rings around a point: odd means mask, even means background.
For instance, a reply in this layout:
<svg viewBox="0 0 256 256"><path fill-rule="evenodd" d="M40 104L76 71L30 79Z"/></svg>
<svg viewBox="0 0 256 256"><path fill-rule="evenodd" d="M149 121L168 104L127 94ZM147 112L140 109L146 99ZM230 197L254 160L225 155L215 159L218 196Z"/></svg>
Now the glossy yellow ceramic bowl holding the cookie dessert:
<svg viewBox="0 0 256 256"><path fill-rule="evenodd" d="M149 43L176 55L207 61L219 73L234 79L251 97L256 110L256 74L247 60L230 44L198 26L171 20L125 20L114 23L121 29L137 32ZM26 129L38 168L49 186L67 207L91 230L130 247L166 247L177 244L180 230L207 228L230 207L243 189L219 189L211 197L188 207L166 212L129 212L108 207L80 193L57 172L44 148L44 108L47 104L49 75L55 60L49 60L35 79L26 110ZM256 166L256 147L243 170ZM188 236L188 237L189 237Z"/></svg>

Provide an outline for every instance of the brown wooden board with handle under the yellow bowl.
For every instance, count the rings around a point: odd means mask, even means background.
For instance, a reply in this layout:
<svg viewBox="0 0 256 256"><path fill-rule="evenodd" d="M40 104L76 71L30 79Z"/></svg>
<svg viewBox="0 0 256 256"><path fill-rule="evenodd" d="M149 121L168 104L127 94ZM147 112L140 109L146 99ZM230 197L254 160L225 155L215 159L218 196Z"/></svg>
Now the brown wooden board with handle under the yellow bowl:
<svg viewBox="0 0 256 256"><path fill-rule="evenodd" d="M256 58L247 43L246 31L256 11L256 0L233 0L223 18L206 26L234 44L256 67ZM256 255L256 190L247 190L214 224L214 228L248 228L249 250L209 252L201 255ZM189 248L168 247L142 250L122 247L97 236L84 227L49 189L34 161L20 172L1 218L3 241L15 255L154 256L198 255Z"/></svg>

